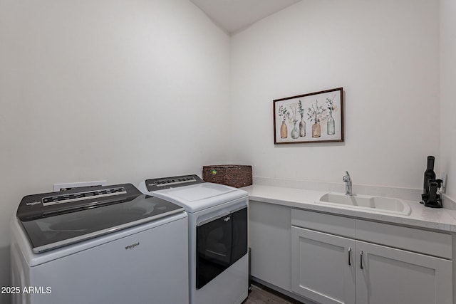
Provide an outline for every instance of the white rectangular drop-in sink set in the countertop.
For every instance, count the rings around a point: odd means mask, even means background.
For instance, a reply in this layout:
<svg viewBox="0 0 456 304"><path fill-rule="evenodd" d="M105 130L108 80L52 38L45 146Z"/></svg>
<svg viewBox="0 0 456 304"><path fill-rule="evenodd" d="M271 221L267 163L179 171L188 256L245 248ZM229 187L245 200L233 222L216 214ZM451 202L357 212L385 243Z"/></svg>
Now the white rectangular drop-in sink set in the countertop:
<svg viewBox="0 0 456 304"><path fill-rule="evenodd" d="M316 204L328 204L340 208L370 210L388 214L410 215L410 206L400 199L390 197L327 193L321 196Z"/></svg>

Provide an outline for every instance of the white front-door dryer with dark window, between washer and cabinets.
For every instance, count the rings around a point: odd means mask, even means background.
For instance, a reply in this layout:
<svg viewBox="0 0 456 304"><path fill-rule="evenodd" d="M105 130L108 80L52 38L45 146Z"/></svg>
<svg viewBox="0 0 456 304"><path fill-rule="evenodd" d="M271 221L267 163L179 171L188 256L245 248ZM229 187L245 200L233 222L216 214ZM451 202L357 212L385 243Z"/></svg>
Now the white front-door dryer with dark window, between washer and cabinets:
<svg viewBox="0 0 456 304"><path fill-rule="evenodd" d="M238 304L248 295L248 195L197 175L146 179L138 188L188 214L192 304Z"/></svg>

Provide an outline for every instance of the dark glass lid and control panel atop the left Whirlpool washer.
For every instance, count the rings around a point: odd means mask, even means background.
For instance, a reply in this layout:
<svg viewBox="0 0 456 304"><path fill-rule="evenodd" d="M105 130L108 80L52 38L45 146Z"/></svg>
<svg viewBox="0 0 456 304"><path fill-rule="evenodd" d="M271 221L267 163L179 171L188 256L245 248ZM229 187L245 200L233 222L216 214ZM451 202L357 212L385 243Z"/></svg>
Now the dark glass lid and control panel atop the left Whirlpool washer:
<svg viewBox="0 0 456 304"><path fill-rule="evenodd" d="M24 196L17 218L34 253L127 229L184 209L133 184L81 187Z"/></svg>

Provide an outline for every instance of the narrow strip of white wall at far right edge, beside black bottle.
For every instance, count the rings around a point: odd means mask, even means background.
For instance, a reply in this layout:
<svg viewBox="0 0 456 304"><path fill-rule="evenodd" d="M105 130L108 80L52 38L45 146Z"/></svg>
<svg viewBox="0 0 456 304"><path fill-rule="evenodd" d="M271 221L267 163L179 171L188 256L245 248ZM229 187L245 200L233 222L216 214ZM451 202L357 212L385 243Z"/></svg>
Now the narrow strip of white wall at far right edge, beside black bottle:
<svg viewBox="0 0 456 304"><path fill-rule="evenodd" d="M456 200L456 1L440 0L440 122L442 171Z"/></svg>

